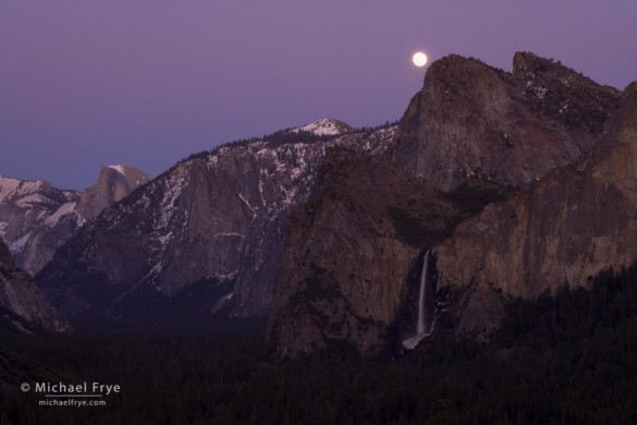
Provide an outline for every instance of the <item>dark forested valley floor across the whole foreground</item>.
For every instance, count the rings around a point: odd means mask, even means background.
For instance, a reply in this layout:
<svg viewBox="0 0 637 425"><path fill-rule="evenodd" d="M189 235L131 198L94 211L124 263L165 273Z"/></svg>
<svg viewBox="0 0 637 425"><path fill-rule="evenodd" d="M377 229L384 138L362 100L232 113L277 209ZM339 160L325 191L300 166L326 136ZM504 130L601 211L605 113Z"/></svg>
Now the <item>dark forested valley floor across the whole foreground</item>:
<svg viewBox="0 0 637 425"><path fill-rule="evenodd" d="M603 272L591 288L513 301L488 345L446 332L393 359L334 347L279 362L255 323L192 335L8 333L0 423L636 423L637 269ZM8 379L15 368L121 392L106 406L38 406L41 394Z"/></svg>

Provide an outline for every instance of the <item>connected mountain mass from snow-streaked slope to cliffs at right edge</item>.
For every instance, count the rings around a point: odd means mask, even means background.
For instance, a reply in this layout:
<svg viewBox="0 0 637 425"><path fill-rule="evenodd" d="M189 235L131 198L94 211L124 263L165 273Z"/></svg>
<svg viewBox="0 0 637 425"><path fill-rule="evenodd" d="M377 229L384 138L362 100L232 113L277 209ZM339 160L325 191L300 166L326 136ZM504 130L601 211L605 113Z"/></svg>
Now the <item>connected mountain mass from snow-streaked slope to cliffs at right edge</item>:
<svg viewBox="0 0 637 425"><path fill-rule="evenodd" d="M507 295L637 259L632 87L531 53L512 73L450 56L400 125L321 120L194 155L79 229L37 281L74 323L268 316L282 356L373 354L414 336L431 250L433 330L488 337Z"/></svg>

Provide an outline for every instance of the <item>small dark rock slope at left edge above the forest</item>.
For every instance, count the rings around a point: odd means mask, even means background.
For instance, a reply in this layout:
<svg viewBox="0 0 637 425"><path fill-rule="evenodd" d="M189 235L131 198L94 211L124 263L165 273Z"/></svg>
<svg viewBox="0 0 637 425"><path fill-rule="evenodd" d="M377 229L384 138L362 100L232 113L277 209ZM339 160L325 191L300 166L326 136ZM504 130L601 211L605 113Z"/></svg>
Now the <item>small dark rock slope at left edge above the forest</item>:
<svg viewBox="0 0 637 425"><path fill-rule="evenodd" d="M0 307L36 327L56 332L71 330L69 323L49 304L32 277L15 267L9 247L0 239ZM4 314L4 319L11 318ZM14 321L19 329L24 327Z"/></svg>

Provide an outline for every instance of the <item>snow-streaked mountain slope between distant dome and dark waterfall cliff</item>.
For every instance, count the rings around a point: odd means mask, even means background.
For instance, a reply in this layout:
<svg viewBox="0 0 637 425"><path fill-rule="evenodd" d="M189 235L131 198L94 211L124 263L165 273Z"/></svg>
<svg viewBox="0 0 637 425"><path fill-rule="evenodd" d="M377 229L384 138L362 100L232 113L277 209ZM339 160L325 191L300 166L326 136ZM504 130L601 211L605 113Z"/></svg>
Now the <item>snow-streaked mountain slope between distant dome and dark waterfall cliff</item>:
<svg viewBox="0 0 637 425"><path fill-rule="evenodd" d="M144 321L161 308L140 304L179 305L188 291L204 316L267 315L287 212L307 198L326 149L380 153L395 133L296 143L287 132L194 155L87 223L38 283L66 317Z"/></svg>

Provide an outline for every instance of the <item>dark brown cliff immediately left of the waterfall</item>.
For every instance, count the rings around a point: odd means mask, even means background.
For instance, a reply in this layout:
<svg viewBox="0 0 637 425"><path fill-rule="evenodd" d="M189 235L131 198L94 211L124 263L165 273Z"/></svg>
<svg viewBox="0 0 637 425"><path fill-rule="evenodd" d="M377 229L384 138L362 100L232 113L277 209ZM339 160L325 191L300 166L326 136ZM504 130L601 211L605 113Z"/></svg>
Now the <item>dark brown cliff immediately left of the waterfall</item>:
<svg viewBox="0 0 637 425"><path fill-rule="evenodd" d="M452 202L389 161L330 150L309 199L290 217L269 340L282 356L334 341L378 352L401 305L417 304L421 247L440 242L454 220Z"/></svg>

